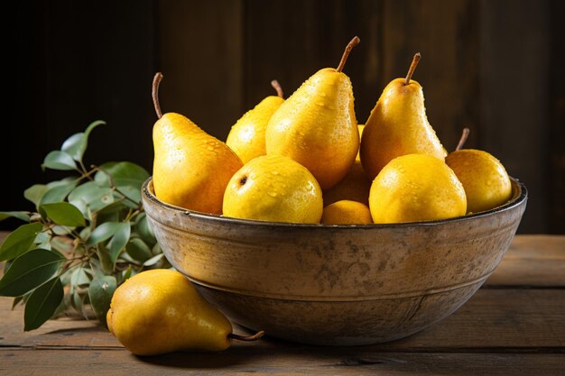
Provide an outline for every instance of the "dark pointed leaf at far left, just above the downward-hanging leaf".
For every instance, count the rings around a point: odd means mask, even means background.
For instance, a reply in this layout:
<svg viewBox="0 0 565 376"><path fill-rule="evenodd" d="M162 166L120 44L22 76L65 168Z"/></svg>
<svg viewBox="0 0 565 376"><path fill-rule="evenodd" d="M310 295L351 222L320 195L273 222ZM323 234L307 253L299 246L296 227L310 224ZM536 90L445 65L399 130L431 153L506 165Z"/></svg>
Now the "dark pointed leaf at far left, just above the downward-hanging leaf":
<svg viewBox="0 0 565 376"><path fill-rule="evenodd" d="M19 297L50 280L64 258L41 248L23 253L0 280L0 296Z"/></svg>

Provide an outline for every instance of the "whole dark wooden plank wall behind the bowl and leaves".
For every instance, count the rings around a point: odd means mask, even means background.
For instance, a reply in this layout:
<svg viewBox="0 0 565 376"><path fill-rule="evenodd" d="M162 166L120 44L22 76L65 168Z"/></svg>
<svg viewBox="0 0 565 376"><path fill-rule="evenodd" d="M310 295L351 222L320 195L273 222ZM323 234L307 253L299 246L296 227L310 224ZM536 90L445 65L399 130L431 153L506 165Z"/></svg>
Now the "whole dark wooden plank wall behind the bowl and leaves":
<svg viewBox="0 0 565 376"><path fill-rule="evenodd" d="M164 75L164 111L225 139L247 109L288 96L335 67L354 35L345 72L364 123L386 83L414 78L449 150L464 126L468 147L496 155L530 199L521 233L565 234L565 28L560 0L143 0L11 5L6 30L0 210L30 208L23 189L56 179L43 156L91 121L86 160L152 168L151 80ZM6 51L12 51L7 52ZM9 59L6 59L9 57ZM0 226L14 226L12 222Z"/></svg>

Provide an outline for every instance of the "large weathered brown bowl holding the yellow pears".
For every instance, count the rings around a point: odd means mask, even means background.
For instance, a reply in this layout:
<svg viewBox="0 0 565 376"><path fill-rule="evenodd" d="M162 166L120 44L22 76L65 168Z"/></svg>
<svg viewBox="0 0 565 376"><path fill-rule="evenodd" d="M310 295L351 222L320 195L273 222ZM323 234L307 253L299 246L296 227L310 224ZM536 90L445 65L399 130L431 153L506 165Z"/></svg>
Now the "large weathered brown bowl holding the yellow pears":
<svg viewBox="0 0 565 376"><path fill-rule="evenodd" d="M513 179L504 206L440 221L302 225L144 209L162 251L236 323L304 344L357 345L412 335L449 316L495 270L526 206Z"/></svg>

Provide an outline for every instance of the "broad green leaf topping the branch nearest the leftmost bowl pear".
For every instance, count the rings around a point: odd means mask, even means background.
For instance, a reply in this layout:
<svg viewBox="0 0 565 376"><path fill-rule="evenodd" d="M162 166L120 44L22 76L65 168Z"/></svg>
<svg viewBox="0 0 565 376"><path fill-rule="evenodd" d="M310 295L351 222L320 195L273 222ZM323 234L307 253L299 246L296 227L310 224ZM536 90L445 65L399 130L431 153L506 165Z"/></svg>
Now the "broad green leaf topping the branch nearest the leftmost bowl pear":
<svg viewBox="0 0 565 376"><path fill-rule="evenodd" d="M107 174L110 174L115 187L128 186L141 189L144 181L149 178L149 173L141 166L128 162L108 162L100 166L94 179L98 184L110 186Z"/></svg>

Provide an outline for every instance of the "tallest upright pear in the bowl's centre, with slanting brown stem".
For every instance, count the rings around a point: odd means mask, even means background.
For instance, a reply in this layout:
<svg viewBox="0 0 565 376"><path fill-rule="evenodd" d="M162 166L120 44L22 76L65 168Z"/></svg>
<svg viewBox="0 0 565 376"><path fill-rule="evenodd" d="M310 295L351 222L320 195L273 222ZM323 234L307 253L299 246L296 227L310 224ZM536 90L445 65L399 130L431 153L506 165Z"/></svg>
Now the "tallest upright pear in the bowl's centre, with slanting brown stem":
<svg viewBox="0 0 565 376"><path fill-rule="evenodd" d="M329 189L343 179L359 147L351 81L342 69L355 37L338 68L320 69L275 111L265 133L267 154L284 155L305 166Z"/></svg>

